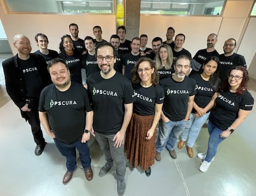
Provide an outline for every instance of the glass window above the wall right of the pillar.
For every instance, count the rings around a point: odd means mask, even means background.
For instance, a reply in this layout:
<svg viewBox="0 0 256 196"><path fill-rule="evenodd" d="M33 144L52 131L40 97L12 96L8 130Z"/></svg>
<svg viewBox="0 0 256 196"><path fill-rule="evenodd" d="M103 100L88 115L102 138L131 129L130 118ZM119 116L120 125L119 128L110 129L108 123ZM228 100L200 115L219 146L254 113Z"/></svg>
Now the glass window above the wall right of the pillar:
<svg viewBox="0 0 256 196"><path fill-rule="evenodd" d="M224 2L225 0L141 0L140 14L221 15Z"/></svg>

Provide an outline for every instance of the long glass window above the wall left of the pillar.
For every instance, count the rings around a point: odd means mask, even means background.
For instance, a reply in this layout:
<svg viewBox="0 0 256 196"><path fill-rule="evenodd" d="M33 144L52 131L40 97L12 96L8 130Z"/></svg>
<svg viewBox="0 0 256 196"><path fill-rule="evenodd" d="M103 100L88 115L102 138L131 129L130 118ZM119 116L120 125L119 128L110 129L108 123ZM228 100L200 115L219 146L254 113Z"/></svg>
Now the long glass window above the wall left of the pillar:
<svg viewBox="0 0 256 196"><path fill-rule="evenodd" d="M5 0L11 12L113 14L114 0Z"/></svg>

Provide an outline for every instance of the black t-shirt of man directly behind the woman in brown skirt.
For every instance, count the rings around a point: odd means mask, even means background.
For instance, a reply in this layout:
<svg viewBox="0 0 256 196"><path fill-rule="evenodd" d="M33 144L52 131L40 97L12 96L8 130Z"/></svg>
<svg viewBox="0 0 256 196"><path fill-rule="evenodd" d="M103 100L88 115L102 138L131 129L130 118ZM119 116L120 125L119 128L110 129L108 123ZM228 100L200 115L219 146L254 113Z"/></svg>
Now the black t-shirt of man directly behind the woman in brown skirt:
<svg viewBox="0 0 256 196"><path fill-rule="evenodd" d="M124 66L126 66L126 72L124 75L126 75L126 77L129 79L129 80L132 80L132 68L134 68L136 62L142 58L142 56L137 55L137 56L134 56L131 52L129 53L126 53L122 56L122 64Z"/></svg>

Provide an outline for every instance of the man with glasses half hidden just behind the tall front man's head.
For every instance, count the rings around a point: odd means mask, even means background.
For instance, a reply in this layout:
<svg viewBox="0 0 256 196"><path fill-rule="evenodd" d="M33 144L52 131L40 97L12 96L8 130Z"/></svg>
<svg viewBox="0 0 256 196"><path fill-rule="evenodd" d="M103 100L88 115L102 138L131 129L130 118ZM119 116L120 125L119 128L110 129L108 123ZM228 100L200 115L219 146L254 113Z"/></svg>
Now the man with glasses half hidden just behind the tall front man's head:
<svg viewBox="0 0 256 196"><path fill-rule="evenodd" d="M118 51L116 62L114 63L114 70L122 74L122 52L119 49L120 38L118 35L111 35L109 42Z"/></svg>

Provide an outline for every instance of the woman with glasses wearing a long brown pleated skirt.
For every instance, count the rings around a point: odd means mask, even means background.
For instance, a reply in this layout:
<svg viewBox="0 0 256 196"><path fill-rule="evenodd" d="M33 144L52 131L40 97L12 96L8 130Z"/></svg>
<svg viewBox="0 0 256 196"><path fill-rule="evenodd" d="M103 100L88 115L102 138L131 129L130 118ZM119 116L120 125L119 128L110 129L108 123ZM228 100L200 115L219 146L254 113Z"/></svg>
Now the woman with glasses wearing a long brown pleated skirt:
<svg viewBox="0 0 256 196"><path fill-rule="evenodd" d="M127 127L124 150L133 167L140 166L147 176L155 163L156 126L161 116L164 92L150 58L140 58L132 69L134 113Z"/></svg>

